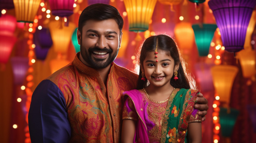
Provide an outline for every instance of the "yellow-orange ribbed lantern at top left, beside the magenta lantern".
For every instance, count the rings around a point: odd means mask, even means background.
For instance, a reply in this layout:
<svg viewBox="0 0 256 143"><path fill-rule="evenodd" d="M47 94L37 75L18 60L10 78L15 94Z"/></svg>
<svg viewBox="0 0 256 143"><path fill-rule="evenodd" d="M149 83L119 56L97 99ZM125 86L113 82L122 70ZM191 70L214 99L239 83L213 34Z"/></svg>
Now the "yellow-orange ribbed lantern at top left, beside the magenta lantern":
<svg viewBox="0 0 256 143"><path fill-rule="evenodd" d="M17 22L33 23L42 0L13 0Z"/></svg>

